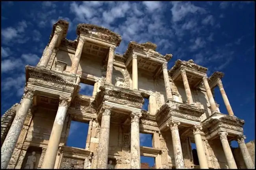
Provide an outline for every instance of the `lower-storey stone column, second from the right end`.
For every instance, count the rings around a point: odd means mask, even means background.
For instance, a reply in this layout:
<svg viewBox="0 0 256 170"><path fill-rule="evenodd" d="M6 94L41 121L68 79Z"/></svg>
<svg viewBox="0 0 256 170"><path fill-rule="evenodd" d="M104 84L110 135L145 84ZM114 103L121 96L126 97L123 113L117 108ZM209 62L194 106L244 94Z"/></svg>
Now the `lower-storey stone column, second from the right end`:
<svg viewBox="0 0 256 170"><path fill-rule="evenodd" d="M224 150L226 160L228 162L229 169L237 169L236 161L234 159L230 145L228 143L227 135L228 132L219 132L219 137L221 139L221 144Z"/></svg>

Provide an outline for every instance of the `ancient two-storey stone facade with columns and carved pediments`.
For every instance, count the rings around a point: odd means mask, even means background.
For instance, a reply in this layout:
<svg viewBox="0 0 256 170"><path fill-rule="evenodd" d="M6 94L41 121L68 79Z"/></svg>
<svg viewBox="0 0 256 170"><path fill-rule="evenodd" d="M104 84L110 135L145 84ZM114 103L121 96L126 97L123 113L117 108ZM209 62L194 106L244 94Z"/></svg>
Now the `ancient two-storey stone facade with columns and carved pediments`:
<svg viewBox="0 0 256 170"><path fill-rule="evenodd" d="M116 54L121 36L97 25L78 24L78 38L67 40L68 26L56 22L38 65L26 66L19 107L2 117L1 168L141 168L140 156L153 157L154 168L236 168L232 140L254 168L222 72L208 78L193 60L168 70L172 54L151 42ZM94 85L92 96L79 94L81 83ZM216 86L228 115L215 103ZM85 148L66 145L72 120L89 124ZM139 133L152 134L152 147L140 146Z"/></svg>

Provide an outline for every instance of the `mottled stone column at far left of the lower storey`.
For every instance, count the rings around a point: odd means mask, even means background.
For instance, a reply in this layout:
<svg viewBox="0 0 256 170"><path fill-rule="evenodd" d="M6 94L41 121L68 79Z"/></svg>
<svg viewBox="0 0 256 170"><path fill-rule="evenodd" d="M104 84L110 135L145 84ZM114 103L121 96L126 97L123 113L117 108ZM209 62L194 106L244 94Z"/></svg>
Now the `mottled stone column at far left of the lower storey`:
<svg viewBox="0 0 256 170"><path fill-rule="evenodd" d="M24 96L19 110L16 113L13 123L9 129L9 132L4 140L4 143L1 147L1 169L6 169L7 165L13 154L15 145L19 139L20 132L24 125L28 110L30 109L33 103L33 96L35 90L24 88Z"/></svg>

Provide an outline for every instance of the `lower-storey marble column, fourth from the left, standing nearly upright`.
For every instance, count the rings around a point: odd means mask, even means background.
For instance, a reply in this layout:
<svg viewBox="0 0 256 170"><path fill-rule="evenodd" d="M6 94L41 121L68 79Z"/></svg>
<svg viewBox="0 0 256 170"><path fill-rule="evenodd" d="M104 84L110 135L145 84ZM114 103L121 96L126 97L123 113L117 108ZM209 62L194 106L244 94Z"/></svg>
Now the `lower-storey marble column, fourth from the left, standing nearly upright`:
<svg viewBox="0 0 256 170"><path fill-rule="evenodd" d="M131 169L141 168L141 150L139 143L139 118L141 113L131 113Z"/></svg>

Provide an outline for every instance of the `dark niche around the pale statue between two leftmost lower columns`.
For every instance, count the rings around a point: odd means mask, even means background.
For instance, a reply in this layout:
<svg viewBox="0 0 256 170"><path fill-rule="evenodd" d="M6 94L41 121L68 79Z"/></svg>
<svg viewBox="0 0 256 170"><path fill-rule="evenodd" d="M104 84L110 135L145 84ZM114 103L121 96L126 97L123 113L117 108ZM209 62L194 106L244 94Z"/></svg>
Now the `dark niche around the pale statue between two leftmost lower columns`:
<svg viewBox="0 0 256 170"><path fill-rule="evenodd" d="M33 152L35 152L35 163L34 163L34 167L30 168L30 169L37 169L38 168L39 160L40 160L40 157L41 157L41 154L42 154L42 148L37 147L37 146L29 146L28 150L26 152L26 155L23 159L21 169L26 168L26 163L28 162L28 157L32 156Z"/></svg>

